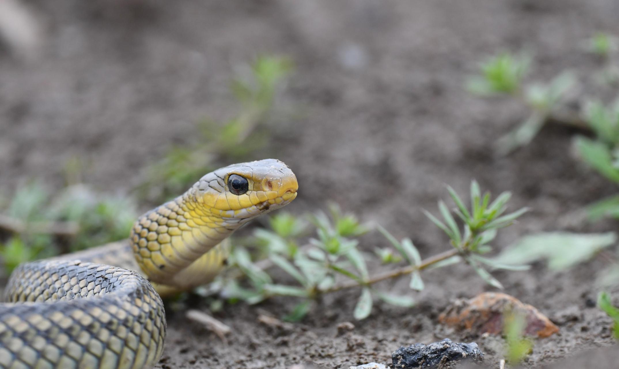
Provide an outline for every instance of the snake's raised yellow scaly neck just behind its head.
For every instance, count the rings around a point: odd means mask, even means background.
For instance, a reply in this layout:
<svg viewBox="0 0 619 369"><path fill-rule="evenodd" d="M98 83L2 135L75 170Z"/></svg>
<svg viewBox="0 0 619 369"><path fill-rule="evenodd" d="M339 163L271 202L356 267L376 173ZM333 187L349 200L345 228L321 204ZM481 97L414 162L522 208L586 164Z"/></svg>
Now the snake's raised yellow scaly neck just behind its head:
<svg viewBox="0 0 619 369"><path fill-rule="evenodd" d="M249 219L224 218L205 206L195 187L139 217L129 241L152 282L174 285L183 269ZM219 214L218 214L219 213Z"/></svg>

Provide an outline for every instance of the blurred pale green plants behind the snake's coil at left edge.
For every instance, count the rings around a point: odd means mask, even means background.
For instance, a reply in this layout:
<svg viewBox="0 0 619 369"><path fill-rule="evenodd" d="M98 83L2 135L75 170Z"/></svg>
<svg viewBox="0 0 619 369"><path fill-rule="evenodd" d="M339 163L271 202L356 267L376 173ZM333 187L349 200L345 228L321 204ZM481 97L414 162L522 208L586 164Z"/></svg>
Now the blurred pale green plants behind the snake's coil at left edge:
<svg viewBox="0 0 619 369"><path fill-rule="evenodd" d="M0 243L6 272L36 258L126 238L137 217L128 199L102 196L83 185L50 196L38 183L17 191L0 215L11 236Z"/></svg>

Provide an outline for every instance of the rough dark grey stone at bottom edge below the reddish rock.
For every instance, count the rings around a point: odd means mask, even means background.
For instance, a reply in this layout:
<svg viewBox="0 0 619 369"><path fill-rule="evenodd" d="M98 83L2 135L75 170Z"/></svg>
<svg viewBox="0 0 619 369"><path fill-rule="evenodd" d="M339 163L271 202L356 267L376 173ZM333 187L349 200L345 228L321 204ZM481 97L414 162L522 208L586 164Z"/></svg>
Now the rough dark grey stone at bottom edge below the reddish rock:
<svg viewBox="0 0 619 369"><path fill-rule="evenodd" d="M424 344L402 346L391 354L391 360L394 369L450 368L463 360L481 362L483 352L475 342L454 344L451 339L446 338L427 346Z"/></svg>

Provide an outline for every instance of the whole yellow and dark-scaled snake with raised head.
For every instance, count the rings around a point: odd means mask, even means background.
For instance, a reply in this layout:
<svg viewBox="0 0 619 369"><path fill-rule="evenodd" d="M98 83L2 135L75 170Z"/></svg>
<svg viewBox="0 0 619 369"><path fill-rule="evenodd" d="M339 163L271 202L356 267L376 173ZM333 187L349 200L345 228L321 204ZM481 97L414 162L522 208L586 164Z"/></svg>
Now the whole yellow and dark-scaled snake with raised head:
<svg viewBox="0 0 619 369"><path fill-rule="evenodd" d="M162 298L212 282L228 236L297 189L279 160L229 165L141 215L127 240L21 264L0 304L0 368L152 367L167 328Z"/></svg>

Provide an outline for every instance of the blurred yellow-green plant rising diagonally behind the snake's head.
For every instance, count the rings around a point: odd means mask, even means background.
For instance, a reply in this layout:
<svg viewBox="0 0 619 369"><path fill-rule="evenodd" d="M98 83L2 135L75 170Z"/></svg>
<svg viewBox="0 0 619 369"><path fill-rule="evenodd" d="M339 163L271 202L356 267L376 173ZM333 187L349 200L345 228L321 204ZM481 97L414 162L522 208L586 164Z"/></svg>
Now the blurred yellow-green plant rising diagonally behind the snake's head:
<svg viewBox="0 0 619 369"><path fill-rule="evenodd" d="M183 191L220 162L240 160L271 140L269 114L277 90L292 71L292 62L279 56L259 56L247 78L236 76L231 90L240 103L238 114L227 121L203 119L193 143L175 145L147 168L139 185L142 195L162 201Z"/></svg>

